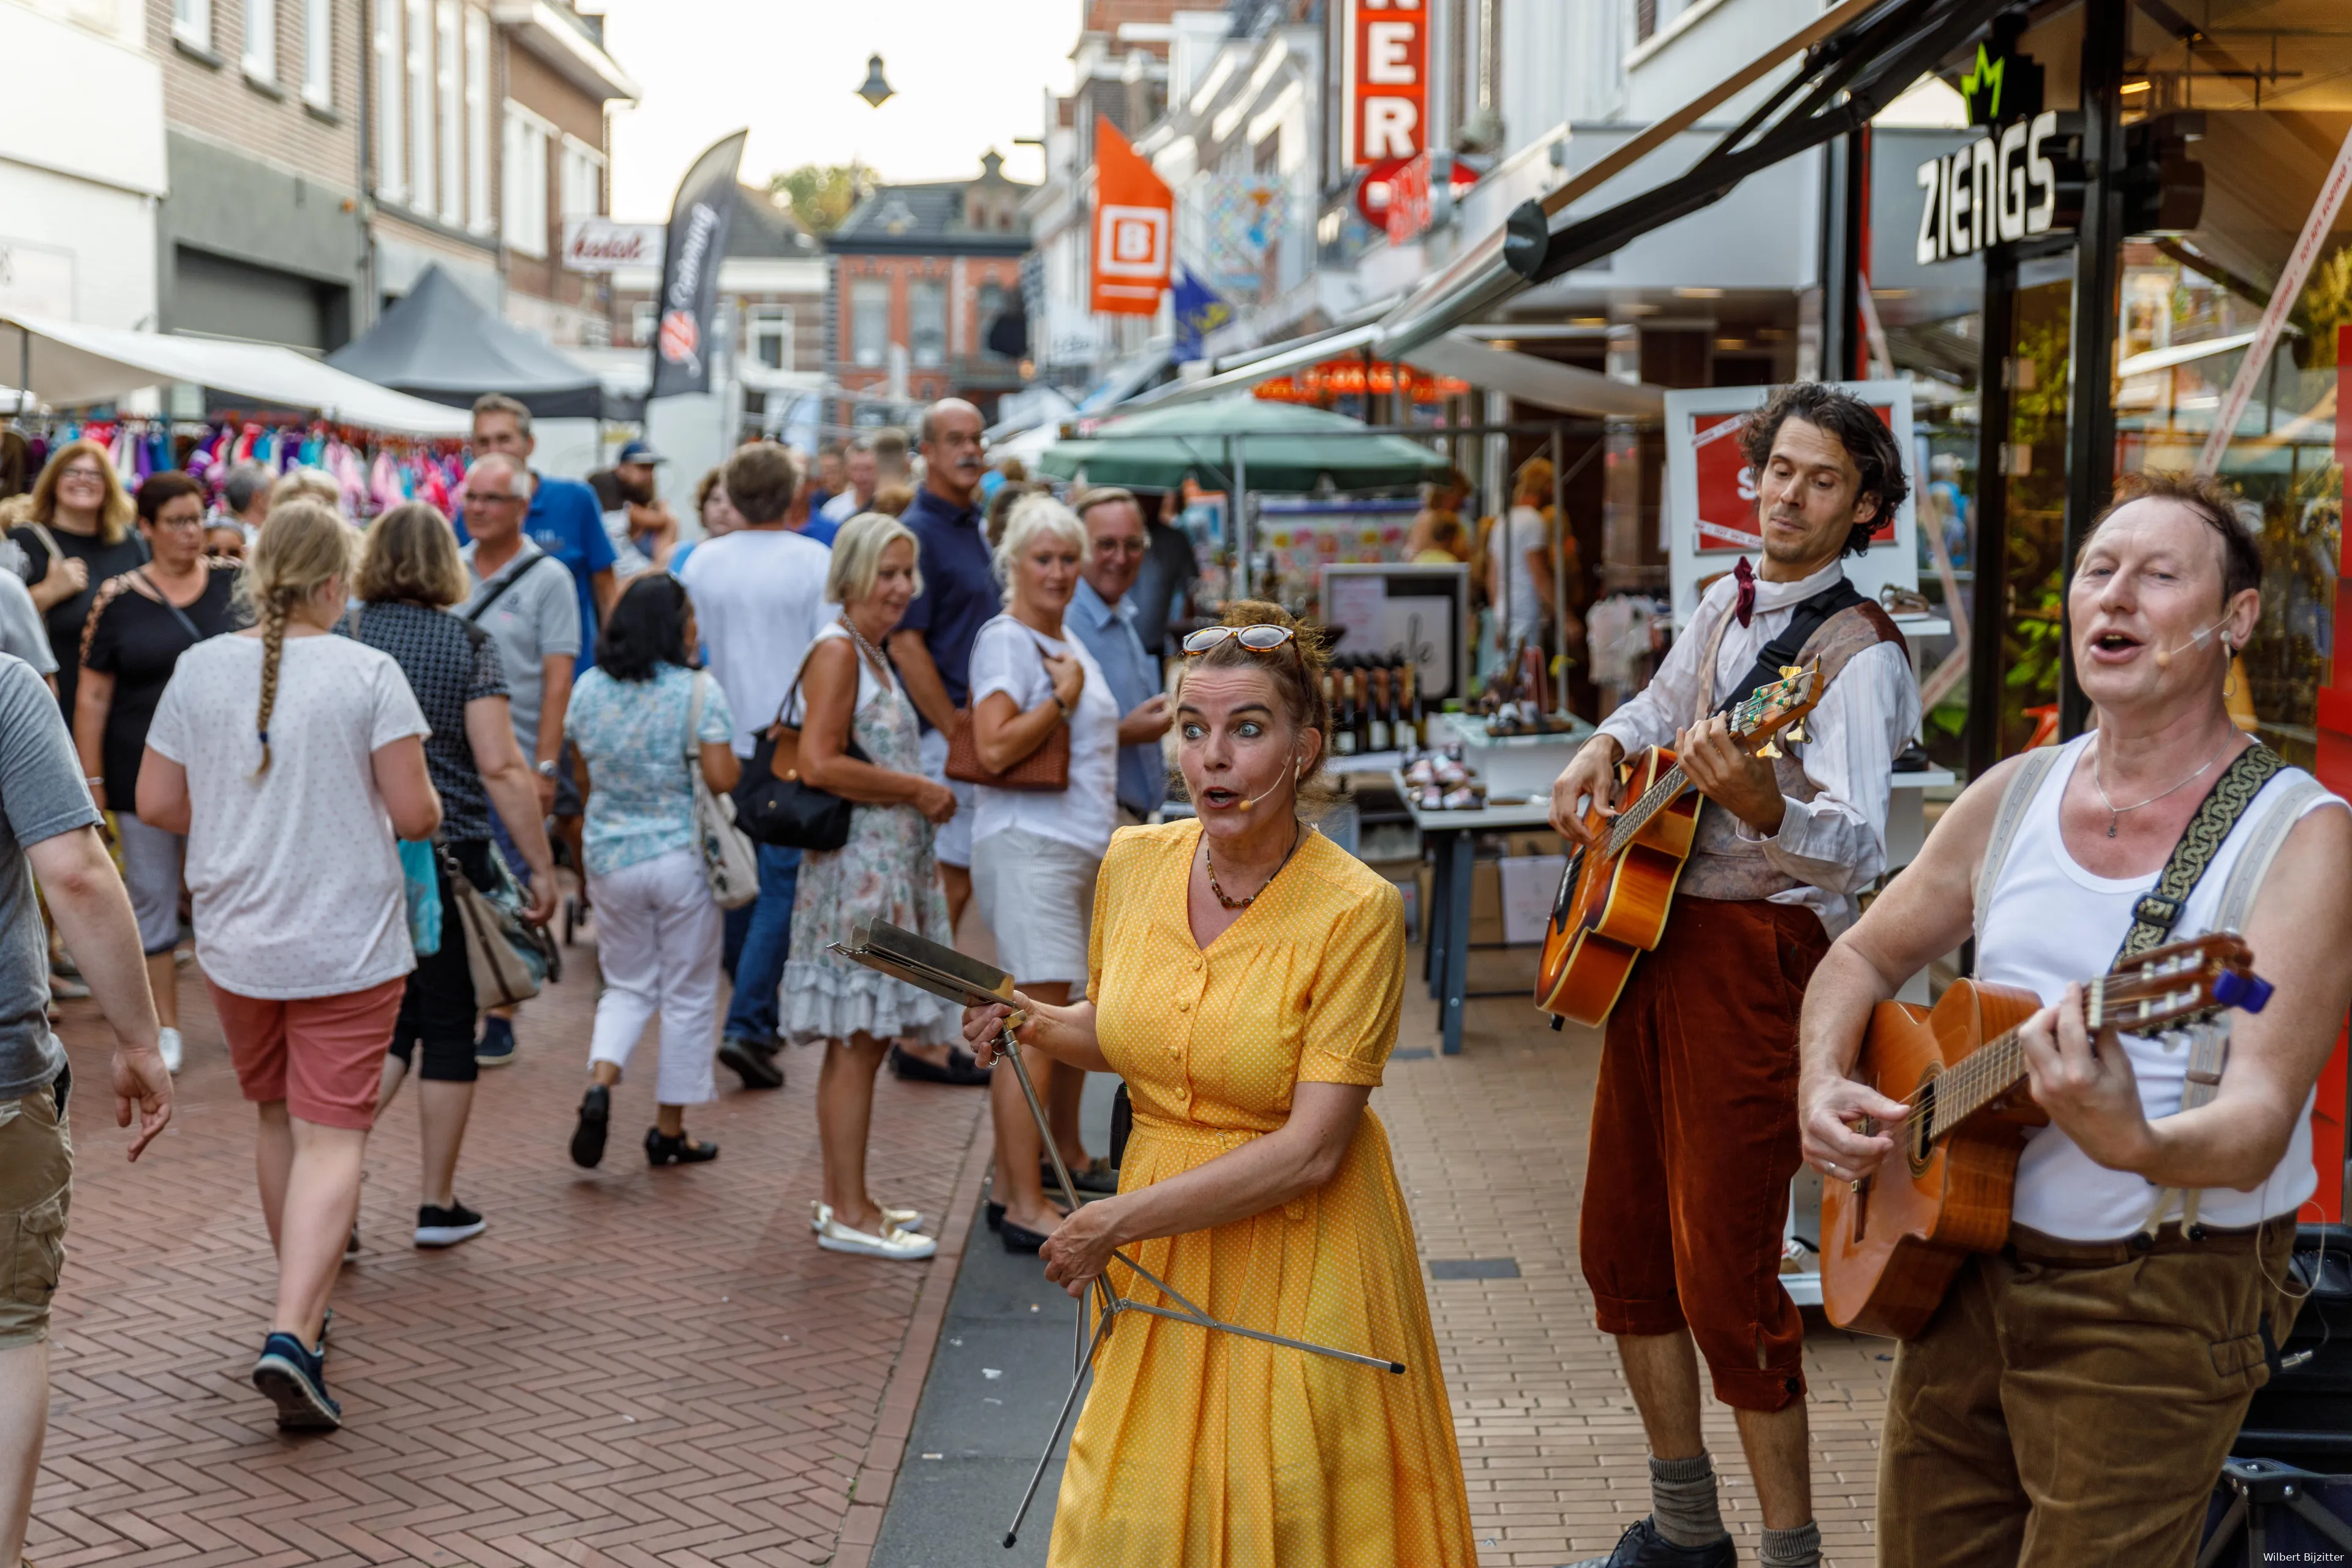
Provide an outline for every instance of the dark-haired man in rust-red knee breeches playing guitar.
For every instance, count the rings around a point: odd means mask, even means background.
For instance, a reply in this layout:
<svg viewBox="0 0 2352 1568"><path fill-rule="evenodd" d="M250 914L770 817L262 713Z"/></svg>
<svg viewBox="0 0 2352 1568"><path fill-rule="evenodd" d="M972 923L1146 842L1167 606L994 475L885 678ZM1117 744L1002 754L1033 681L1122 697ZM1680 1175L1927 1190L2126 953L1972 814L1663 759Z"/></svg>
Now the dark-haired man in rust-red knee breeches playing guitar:
<svg viewBox="0 0 2352 1568"><path fill-rule="evenodd" d="M1616 764L1672 745L1705 804L1665 936L1609 1013L1581 1251L1651 1450L1653 1514L1592 1563L1736 1561L1698 1432L1698 1354L1738 1415L1764 1563L1820 1561L1804 1420L1804 1321L1780 1288L1797 1175L1797 1006L1856 896L1886 865L1893 757L1919 689L1893 623L1846 583L1907 494L1903 454L1860 400L1783 388L1740 433L1764 569L1724 574L1656 679L1552 785L1552 825L1590 844L1583 802L1618 804ZM1818 658L1811 741L1750 757L1722 710ZM1802 762L1797 752L1802 750Z"/></svg>

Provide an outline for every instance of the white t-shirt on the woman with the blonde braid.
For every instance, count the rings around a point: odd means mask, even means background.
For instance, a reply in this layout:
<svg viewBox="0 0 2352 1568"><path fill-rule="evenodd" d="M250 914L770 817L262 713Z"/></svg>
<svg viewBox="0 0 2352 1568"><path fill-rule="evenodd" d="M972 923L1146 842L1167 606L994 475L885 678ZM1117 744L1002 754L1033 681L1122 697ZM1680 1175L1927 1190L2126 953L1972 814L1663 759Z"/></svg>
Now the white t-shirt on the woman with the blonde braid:
<svg viewBox="0 0 2352 1568"><path fill-rule="evenodd" d="M195 959L240 997L341 997L409 973L407 891L374 752L430 733L409 682L350 637L287 637L261 741L261 639L179 656L148 745L188 771Z"/></svg>

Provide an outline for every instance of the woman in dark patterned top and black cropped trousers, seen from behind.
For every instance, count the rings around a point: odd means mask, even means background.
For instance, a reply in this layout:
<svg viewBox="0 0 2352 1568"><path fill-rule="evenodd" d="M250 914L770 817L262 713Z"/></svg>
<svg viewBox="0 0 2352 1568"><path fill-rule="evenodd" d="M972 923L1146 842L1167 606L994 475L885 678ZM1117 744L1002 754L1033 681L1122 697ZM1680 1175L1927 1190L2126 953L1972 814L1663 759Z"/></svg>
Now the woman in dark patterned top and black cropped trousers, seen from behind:
<svg viewBox="0 0 2352 1568"><path fill-rule="evenodd" d="M539 818L539 778L522 759L506 710L499 644L482 628L449 614L452 604L473 595L449 520L423 501L409 501L367 524L353 592L360 602L343 630L390 654L433 726L426 766L442 797L442 842L435 846L442 943L416 954L383 1056L376 1110L390 1110L409 1067L416 1067L423 1079L416 1086L421 1190L412 1241L456 1246L480 1237L489 1222L456 1199L456 1157L480 1077L475 1025L482 1006L452 867L482 893L503 891L506 863L489 835L489 809L496 806L499 818L513 825L515 846L532 872L527 919L546 924L555 914L555 860Z"/></svg>

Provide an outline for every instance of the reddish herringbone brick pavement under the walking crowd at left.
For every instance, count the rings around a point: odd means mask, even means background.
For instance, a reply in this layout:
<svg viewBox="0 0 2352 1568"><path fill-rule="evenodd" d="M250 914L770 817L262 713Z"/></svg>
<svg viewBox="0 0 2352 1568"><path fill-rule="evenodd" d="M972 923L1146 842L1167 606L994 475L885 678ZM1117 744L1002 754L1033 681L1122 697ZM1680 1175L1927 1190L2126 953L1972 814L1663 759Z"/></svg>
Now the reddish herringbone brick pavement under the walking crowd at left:
<svg viewBox="0 0 2352 1568"><path fill-rule="evenodd" d="M414 1091L369 1145L365 1255L336 1288L343 1432L287 1439L247 1382L275 1269L238 1098L183 976L179 1117L139 1166L103 1095L106 1030L66 1004L80 1173L56 1295L54 1406L28 1556L80 1563L863 1563L929 1366L950 1258L816 1248L816 1053L781 1093L689 1117L717 1164L649 1171L652 1060L616 1093L604 1168L564 1145L586 1081L593 959L485 1074L459 1192L489 1232L409 1246ZM640 1046L652 1053L654 1041ZM729 1074L720 1074L731 1084ZM985 1095L882 1077L882 1197L969 1192ZM913 1335L913 1342L910 1342ZM894 1378L901 1347L913 1375ZM849 1526L849 1547L835 1556Z"/></svg>

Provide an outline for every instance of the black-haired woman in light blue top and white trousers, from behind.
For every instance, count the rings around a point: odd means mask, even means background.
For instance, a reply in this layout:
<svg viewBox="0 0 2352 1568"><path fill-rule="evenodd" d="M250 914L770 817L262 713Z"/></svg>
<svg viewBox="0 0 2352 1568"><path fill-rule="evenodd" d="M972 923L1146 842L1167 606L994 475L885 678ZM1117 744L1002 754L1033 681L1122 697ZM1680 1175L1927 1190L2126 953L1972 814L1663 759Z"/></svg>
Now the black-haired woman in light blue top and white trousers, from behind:
<svg viewBox="0 0 2352 1568"><path fill-rule="evenodd" d="M661 1013L661 1067L644 1157L687 1166L720 1145L687 1138L687 1105L717 1098L713 1053L720 999L720 903L696 844L696 790L727 795L741 762L727 693L694 670L694 602L668 571L630 581L597 635L597 663L572 686L564 733L588 780L581 846L597 919L588 1093L572 1131L572 1164L595 1168L612 1126L612 1086L637 1037ZM691 762L687 759L691 750Z"/></svg>

